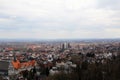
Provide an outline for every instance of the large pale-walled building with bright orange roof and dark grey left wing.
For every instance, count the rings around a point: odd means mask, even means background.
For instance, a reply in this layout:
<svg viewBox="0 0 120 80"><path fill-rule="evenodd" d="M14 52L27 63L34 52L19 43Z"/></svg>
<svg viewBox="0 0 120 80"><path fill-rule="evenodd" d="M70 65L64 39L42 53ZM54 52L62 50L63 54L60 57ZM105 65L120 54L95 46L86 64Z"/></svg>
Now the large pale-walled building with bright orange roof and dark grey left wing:
<svg viewBox="0 0 120 80"><path fill-rule="evenodd" d="M0 75L5 79L17 75L22 71L31 70L35 66L36 61L34 59L28 61L19 60L1 60L0 61Z"/></svg>

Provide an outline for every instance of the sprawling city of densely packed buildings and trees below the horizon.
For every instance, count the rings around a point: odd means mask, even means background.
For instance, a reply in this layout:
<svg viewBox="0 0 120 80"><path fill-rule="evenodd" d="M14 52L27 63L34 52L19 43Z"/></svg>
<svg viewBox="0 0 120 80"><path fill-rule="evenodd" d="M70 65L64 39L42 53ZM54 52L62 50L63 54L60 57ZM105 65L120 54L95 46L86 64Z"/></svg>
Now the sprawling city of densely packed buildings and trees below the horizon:
<svg viewBox="0 0 120 80"><path fill-rule="evenodd" d="M0 42L0 80L120 80L120 41Z"/></svg>

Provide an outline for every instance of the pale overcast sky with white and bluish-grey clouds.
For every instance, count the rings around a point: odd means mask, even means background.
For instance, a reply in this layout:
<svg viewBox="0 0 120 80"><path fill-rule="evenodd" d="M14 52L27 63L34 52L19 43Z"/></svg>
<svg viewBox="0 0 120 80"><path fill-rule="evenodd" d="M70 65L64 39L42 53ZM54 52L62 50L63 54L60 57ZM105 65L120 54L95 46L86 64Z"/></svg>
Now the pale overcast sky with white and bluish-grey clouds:
<svg viewBox="0 0 120 80"><path fill-rule="evenodd" d="M0 0L0 38L120 38L120 0Z"/></svg>

